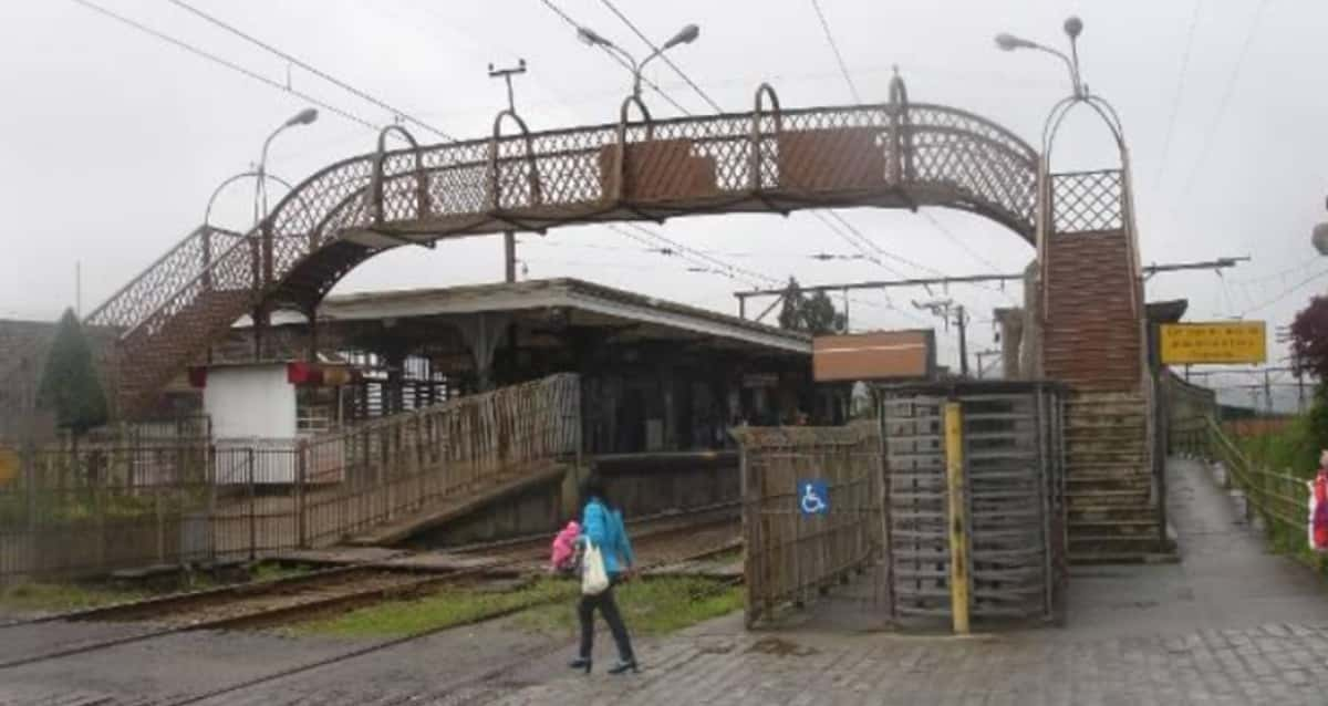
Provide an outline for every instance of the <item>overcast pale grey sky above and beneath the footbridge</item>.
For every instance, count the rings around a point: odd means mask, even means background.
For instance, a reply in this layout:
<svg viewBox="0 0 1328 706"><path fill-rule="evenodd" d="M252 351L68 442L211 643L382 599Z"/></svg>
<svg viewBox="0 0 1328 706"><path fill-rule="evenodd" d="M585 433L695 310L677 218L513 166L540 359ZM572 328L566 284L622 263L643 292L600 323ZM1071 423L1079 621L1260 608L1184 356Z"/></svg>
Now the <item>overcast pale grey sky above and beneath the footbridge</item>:
<svg viewBox="0 0 1328 706"><path fill-rule="evenodd" d="M286 81L284 61L165 0L96 1ZM486 76L489 62L521 57L530 65L517 81L517 104L533 129L610 122L629 86L620 66L575 41L542 0L190 1L461 138L489 134L503 106L502 85ZM629 50L643 48L602 0L551 1ZM672 56L725 109L746 109L761 81L778 89L785 106L853 102L810 0L615 4L659 40L684 23L700 24L700 40ZM1064 68L1044 54L999 52L992 36L1008 31L1060 46L1061 21L1080 15L1085 78L1125 121L1145 261L1254 257L1220 279L1159 275L1149 281L1149 299L1187 297L1190 318L1262 317L1272 328L1328 287L1324 277L1293 288L1328 269L1308 244L1309 228L1325 218L1328 192L1321 166L1328 93L1317 76L1328 58L1321 41L1328 7L1268 0L821 5L865 101L886 100L890 68L898 64L914 101L972 110L1029 142L1068 92ZM0 211L7 220L0 317L54 318L73 303L76 259L85 311L98 304L198 226L216 183L256 162L271 129L305 105L69 0L0 0ZM663 62L649 76L689 110L708 110ZM291 81L376 125L392 119L297 68ZM659 96L647 101L657 115L676 114ZM315 125L278 139L270 169L299 180L369 151L373 139L368 127L324 111ZM1106 146L1096 125L1074 121L1054 166L1108 166ZM247 187L228 191L219 204L220 224L248 224ZM906 211L843 215L882 248L950 273L1016 271L1033 256L999 226L928 212L935 222ZM855 252L806 214L679 219L660 232L773 277L797 273L810 284L890 276L866 261L806 257ZM521 240L530 277L584 277L730 313L730 292L744 287L688 272L677 259L603 227ZM336 291L501 277L501 239L467 239L437 251L389 252ZM983 322L989 309L1020 297L1017 287L955 287L951 295L981 312L975 349L991 345L991 324ZM924 296L862 293L853 303L854 328L916 326L923 318L908 311L908 299ZM954 362L954 336L940 333L944 362ZM1271 353L1284 354L1280 346ZM1244 393L1240 398L1248 401Z"/></svg>

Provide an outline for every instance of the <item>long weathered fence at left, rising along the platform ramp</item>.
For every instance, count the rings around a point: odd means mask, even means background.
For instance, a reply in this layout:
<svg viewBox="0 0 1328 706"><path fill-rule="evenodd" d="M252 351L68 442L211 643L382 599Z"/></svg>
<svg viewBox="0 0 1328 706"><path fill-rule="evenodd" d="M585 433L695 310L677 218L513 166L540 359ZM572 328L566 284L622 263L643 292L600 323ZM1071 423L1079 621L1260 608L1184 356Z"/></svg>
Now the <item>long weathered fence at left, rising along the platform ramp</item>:
<svg viewBox="0 0 1328 706"><path fill-rule="evenodd" d="M0 486L0 584L327 545L575 455L560 374L311 439L21 449Z"/></svg>

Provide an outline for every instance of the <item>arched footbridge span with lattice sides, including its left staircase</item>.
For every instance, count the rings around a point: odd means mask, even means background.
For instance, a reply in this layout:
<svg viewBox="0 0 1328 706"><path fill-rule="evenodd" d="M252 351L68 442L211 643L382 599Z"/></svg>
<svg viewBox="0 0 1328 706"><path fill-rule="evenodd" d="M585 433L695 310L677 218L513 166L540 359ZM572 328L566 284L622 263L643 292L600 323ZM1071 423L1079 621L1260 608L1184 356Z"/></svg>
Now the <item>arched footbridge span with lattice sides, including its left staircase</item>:
<svg viewBox="0 0 1328 706"><path fill-rule="evenodd" d="M122 360L135 361L122 385L146 394L254 307L274 297L312 307L359 261L402 243L846 204L950 206L1032 240L1036 174L1037 154L1008 130L907 102L773 111L758 104L752 113L373 153L319 171L246 235L199 228L89 322L122 332ZM340 261L315 257L344 242L355 247ZM305 263L311 273L301 273ZM280 293L296 280L303 293Z"/></svg>

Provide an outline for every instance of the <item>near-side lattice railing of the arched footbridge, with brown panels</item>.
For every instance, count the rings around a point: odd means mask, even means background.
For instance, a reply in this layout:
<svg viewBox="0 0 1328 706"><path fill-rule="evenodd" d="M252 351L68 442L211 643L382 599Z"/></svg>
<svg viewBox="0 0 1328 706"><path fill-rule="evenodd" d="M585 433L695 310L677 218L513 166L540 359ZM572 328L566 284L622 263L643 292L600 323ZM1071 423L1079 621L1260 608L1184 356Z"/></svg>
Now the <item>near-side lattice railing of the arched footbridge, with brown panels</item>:
<svg viewBox="0 0 1328 706"><path fill-rule="evenodd" d="M625 145L622 176L614 174L619 131ZM907 159L892 147L895 133ZM757 143L761 150L753 159ZM818 161L814 153L823 147L839 149ZM850 159L839 163L846 154ZM871 191L878 199L890 192L908 195L915 188L915 203L947 202L983 211L1027 238L1033 228L1033 150L983 118L943 106L884 104L600 125L534 133L529 142L511 135L422 147L418 157L421 169L412 150L388 153L377 207L368 188L372 154L332 165L300 184L263 231L246 236L264 240L262 248L270 251L260 253L262 284L279 283L349 228L461 235L633 218L633 208L639 211L635 218L713 211L716 203L753 210L758 207L753 196L777 210L793 210L869 199ZM846 174L822 170L827 165L819 162L827 157ZM892 162L908 166L895 169ZM417 198L421 176L428 194L424 210ZM615 187L622 187L619 194ZM616 202L627 212L606 214ZM127 330L158 309L178 312L179 304L162 300L195 299L206 289L203 269L224 268L234 279L234 268L220 257L227 248L214 244L218 257L212 260L203 255L207 235L201 228L177 246L108 301L94 322ZM211 230L214 240L218 235ZM235 243L243 240L230 235Z"/></svg>

